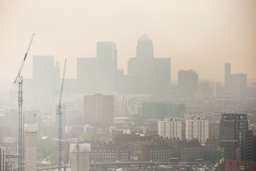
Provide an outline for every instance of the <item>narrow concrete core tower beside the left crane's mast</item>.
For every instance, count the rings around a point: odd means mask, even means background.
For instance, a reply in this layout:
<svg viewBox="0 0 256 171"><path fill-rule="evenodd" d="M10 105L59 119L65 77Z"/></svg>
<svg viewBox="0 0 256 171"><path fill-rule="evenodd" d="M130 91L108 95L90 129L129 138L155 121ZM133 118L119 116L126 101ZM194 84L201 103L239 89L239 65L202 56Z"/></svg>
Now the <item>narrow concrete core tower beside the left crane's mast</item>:
<svg viewBox="0 0 256 171"><path fill-rule="evenodd" d="M36 170L36 134L38 123L25 123L25 170Z"/></svg>

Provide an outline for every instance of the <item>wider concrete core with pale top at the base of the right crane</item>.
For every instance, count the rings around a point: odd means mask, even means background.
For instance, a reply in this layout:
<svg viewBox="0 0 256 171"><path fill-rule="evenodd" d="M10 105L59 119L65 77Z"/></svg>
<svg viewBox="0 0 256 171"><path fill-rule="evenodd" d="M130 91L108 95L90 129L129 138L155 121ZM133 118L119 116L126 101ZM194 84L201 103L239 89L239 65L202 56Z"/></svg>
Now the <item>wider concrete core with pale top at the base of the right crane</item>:
<svg viewBox="0 0 256 171"><path fill-rule="evenodd" d="M89 171L90 144L71 144L71 150L71 171Z"/></svg>

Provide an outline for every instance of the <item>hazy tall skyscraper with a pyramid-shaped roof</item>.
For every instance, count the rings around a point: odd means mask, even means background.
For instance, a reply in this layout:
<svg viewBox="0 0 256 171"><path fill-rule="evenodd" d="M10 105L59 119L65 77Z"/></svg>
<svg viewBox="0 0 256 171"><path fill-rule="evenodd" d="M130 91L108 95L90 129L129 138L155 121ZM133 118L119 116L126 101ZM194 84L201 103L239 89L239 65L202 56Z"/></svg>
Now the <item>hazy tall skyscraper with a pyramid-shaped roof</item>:
<svg viewBox="0 0 256 171"><path fill-rule="evenodd" d="M138 60L138 94L151 94L154 47L152 40L146 33L138 40L136 54Z"/></svg>

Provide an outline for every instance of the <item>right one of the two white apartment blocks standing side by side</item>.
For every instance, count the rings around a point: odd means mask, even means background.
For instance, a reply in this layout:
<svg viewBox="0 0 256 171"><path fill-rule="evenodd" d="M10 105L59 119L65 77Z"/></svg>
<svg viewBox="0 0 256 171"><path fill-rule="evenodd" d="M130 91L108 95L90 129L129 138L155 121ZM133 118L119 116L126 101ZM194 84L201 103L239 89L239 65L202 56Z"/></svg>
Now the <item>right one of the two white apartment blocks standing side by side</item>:
<svg viewBox="0 0 256 171"><path fill-rule="evenodd" d="M192 115L186 119L186 140L198 138L202 144L209 138L209 120L204 120L202 115Z"/></svg>

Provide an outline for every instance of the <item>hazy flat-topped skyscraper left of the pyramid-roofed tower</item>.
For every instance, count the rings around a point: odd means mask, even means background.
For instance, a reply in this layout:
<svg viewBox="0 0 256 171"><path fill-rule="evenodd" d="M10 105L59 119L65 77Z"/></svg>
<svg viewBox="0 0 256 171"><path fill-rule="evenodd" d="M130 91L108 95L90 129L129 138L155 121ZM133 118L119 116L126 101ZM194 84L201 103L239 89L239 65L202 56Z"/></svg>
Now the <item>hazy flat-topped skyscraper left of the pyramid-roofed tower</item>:
<svg viewBox="0 0 256 171"><path fill-rule="evenodd" d="M97 42L96 92L113 93L115 57L114 42Z"/></svg>

